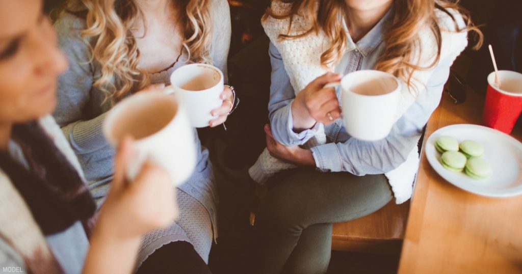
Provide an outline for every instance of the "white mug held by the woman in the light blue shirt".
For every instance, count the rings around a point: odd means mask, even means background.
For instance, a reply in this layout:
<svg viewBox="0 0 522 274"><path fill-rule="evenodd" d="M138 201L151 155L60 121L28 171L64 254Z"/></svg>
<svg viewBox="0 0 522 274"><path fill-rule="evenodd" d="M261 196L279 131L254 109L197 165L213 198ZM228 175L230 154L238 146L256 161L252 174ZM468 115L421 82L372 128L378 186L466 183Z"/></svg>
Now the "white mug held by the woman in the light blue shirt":
<svg viewBox="0 0 522 274"><path fill-rule="evenodd" d="M325 87L341 86L342 120L352 137L365 141L385 138L396 120L401 82L389 73L358 70Z"/></svg>

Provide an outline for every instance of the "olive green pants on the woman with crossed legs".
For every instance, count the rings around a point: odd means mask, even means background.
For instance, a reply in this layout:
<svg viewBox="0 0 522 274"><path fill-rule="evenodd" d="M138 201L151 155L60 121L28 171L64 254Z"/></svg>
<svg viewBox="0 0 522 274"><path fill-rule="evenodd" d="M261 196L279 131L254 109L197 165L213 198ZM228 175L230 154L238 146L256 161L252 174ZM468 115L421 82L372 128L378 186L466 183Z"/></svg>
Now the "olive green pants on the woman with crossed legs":
<svg viewBox="0 0 522 274"><path fill-rule="evenodd" d="M295 169L269 183L254 227L257 273L325 273L333 223L369 215L393 198L383 174Z"/></svg>

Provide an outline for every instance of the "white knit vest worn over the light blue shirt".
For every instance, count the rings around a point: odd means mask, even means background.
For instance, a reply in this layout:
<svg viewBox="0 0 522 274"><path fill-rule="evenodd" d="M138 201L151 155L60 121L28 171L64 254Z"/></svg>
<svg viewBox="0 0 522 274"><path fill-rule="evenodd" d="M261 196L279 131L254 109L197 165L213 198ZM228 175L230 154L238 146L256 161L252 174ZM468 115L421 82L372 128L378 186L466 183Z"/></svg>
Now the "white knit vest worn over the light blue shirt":
<svg viewBox="0 0 522 274"><path fill-rule="evenodd" d="M273 1L271 10L276 15L287 14L291 4ZM316 6L316 9L318 5ZM458 22L459 28L465 27L465 22L461 15L455 10L449 10ZM467 46L467 32L455 31L454 20L441 10L436 10L436 16L439 20L439 26L442 34L442 48L440 60L451 58L452 62ZM310 29L310 22L304 20L301 16L294 16L292 28L289 30L289 19L267 18L263 22L263 27L270 41L277 47L284 64L284 68L290 78L293 89L297 92L303 90L313 79L325 74L331 68L325 68L321 65L321 56L319 53L324 52L329 43L323 31L319 31L317 35L307 35L300 39L279 39L279 34L298 34L304 30ZM413 54L413 60L420 60L420 64L432 64L437 53L437 43L431 30L426 27L420 31L420 47ZM436 66L435 66L436 67ZM413 90L418 92L426 92L425 83L434 72L434 68L430 70L416 70L412 76ZM406 112L409 106L416 100L407 85L402 85L401 100L396 113L396 121ZM385 173L390 186L394 192L397 204L407 201L411 198L413 192L413 182L419 168L419 154L417 146L409 153L404 163L397 169Z"/></svg>

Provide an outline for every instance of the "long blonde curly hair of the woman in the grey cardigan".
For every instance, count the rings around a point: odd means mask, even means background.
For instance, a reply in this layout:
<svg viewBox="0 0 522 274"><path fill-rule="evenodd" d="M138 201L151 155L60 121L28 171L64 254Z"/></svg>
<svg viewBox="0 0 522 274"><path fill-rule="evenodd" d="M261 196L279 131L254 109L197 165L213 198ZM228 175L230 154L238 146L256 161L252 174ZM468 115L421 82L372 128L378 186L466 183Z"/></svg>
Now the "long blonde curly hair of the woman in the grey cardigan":
<svg viewBox="0 0 522 274"><path fill-rule="evenodd" d="M171 1L181 5L177 22L182 25L182 45L189 62L210 63L210 0ZM140 53L131 28L140 10L133 0L70 0L64 12L86 20L81 36L92 53L90 62L101 67L93 86L105 92L106 98L118 101L150 84L148 74L138 67Z"/></svg>

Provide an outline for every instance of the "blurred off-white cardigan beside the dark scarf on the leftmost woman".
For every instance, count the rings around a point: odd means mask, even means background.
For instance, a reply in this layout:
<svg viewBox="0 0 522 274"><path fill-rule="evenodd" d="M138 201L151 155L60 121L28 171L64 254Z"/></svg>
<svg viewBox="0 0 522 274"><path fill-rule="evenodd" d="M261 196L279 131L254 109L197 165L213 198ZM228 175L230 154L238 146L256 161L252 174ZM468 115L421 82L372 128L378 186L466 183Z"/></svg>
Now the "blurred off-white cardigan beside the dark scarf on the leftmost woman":
<svg viewBox="0 0 522 274"><path fill-rule="evenodd" d="M84 173L80 168L80 163L69 147L69 142L65 139L62 130L52 116L45 116L40 119L40 125L53 139L56 147L65 155L66 159L74 166L85 181ZM0 169L0 235L8 244L24 258L25 263L31 264L32 261L38 267L40 273L54 272L54 257L42 234L38 224L33 219L31 211L25 200L13 186L9 177ZM27 265L27 268L34 271L34 265Z"/></svg>

